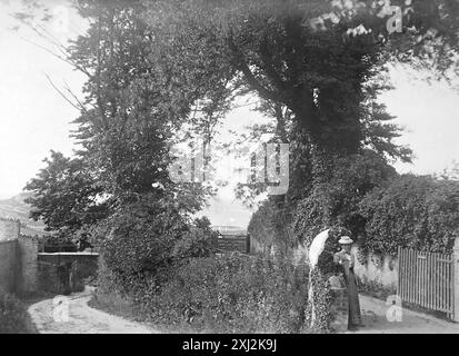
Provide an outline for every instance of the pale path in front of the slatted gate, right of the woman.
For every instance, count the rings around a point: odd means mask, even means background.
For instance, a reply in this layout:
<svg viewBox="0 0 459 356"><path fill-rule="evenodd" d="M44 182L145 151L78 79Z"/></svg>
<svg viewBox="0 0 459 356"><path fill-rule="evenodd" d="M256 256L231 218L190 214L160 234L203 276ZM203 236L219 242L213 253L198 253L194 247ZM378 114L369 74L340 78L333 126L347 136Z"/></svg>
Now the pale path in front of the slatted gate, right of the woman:
<svg viewBox="0 0 459 356"><path fill-rule="evenodd" d="M360 296L365 327L350 334L459 334L459 324L402 309L401 322L389 322L385 301Z"/></svg>

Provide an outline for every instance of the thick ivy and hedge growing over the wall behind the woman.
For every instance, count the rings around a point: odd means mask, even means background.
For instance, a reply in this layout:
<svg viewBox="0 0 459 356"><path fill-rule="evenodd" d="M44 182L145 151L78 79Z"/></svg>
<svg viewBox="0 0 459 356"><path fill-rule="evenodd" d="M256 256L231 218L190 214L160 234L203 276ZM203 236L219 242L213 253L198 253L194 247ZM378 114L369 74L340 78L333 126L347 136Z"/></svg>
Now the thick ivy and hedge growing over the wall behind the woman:
<svg viewBox="0 0 459 356"><path fill-rule="evenodd" d="M363 260L368 254L396 256L398 247L451 251L459 237L457 180L398 176L383 161L362 157L347 161L315 185L293 208L293 220L285 220L292 224L297 243L308 246L321 230L342 226L359 244ZM271 222L277 212L268 201L250 221L253 237L268 246L279 236Z"/></svg>

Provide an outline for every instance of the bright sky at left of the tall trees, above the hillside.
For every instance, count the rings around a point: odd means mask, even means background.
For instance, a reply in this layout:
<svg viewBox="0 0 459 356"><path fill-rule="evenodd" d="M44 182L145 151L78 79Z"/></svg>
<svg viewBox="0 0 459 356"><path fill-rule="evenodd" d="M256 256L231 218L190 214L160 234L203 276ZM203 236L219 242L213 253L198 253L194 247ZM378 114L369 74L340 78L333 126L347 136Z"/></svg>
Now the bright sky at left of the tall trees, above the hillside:
<svg viewBox="0 0 459 356"><path fill-rule="evenodd" d="M51 87L46 73L59 88L66 81L77 93L84 82L69 65L30 43L46 43L38 36L9 30L17 24L8 14L16 6L14 1L0 2L0 198L20 192L51 149L72 152L69 122L78 111ZM74 37L74 27L81 27L74 23L74 14L69 20L67 32L50 26L61 41Z"/></svg>

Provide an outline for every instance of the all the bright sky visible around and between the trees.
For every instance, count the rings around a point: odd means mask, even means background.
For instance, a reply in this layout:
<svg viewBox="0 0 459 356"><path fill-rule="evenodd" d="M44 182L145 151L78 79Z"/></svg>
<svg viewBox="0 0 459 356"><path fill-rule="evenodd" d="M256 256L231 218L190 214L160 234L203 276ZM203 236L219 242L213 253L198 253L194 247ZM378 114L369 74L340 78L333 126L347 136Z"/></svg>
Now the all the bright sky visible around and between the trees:
<svg viewBox="0 0 459 356"><path fill-rule="evenodd" d="M70 121L78 111L59 96L44 73L60 88L67 82L78 95L84 82L83 75L29 42L44 43L37 36L8 30L14 24L8 16L12 3L0 0L0 198L20 192L51 149L70 155L74 148L69 134L73 128ZM59 6L61 1L54 3ZM70 12L67 31L52 26L50 30L64 41L81 33L82 28L81 19ZM26 33L28 40L21 39ZM409 144L417 156L413 165L397 168L433 174L459 160L459 93L441 82L429 86L412 80L402 69L392 70L391 77L396 89L381 99L398 117L396 122L406 127L401 141ZM241 127L248 120L257 120L257 116L245 107L227 120ZM224 189L207 209L214 225L246 226L249 221L250 212L231 195L231 189Z"/></svg>

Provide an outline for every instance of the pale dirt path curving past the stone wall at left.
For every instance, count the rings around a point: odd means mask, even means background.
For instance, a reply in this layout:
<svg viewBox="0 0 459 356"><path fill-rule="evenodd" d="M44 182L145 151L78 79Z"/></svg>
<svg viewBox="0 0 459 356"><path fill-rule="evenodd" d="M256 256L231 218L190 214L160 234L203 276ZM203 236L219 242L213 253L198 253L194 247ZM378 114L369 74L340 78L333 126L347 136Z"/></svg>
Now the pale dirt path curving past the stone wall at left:
<svg viewBox="0 0 459 356"><path fill-rule="evenodd" d="M29 307L40 334L158 334L142 324L126 320L88 306L90 289L69 296L68 314L57 314L53 299ZM67 318L68 315L68 318Z"/></svg>

